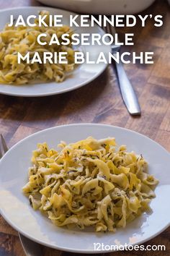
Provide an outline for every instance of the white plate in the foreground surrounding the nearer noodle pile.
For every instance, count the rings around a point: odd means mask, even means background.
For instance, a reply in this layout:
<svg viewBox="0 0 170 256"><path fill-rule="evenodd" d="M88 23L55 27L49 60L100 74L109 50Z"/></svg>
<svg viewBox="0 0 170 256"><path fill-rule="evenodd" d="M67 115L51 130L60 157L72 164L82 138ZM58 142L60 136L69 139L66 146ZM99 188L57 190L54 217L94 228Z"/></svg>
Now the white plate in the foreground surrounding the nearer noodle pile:
<svg viewBox="0 0 170 256"><path fill-rule="evenodd" d="M99 138L115 137L117 144L128 145L128 150L142 153L149 163L149 173L160 183L156 187L156 198L151 201L152 213L143 213L140 218L128 224L125 229L117 229L115 234L96 234L89 231L71 231L58 228L39 211L30 207L27 197L22 195L22 187L27 182L32 150L37 142L48 142L55 147L60 140L75 142L89 135ZM71 124L53 127L37 132L14 145L0 161L0 209L6 221L30 239L48 247L71 252L94 252L94 243L105 245L140 244L164 231L170 222L170 155L148 137L128 129L104 124Z"/></svg>

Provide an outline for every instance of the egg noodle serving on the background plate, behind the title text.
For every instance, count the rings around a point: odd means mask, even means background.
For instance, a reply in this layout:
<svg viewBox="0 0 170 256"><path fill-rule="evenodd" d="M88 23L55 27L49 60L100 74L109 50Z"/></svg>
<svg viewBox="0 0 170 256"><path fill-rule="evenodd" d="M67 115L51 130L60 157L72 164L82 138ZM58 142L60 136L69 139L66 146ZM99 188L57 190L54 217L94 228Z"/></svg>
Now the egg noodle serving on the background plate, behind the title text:
<svg viewBox="0 0 170 256"><path fill-rule="evenodd" d="M47 15L45 22L49 22L49 12L42 11L40 14ZM47 36L45 41L50 42L50 38L53 34L58 36L60 40L61 35L67 33L71 36L73 33L71 28L63 25L63 27L39 27L38 19L35 19L37 26L35 27L24 27L18 26L8 27L6 25L4 30L0 33L0 83L4 84L17 84L22 85L28 82L39 82L39 81L56 81L61 82L66 76L66 72L72 71L75 68L74 64L74 50L71 43L68 46L40 46L37 43L37 36L41 33L45 33ZM45 52L54 53L67 53L66 59L67 64L45 64L40 63L18 63L17 55L30 54L30 59L35 54L39 54L42 58Z"/></svg>

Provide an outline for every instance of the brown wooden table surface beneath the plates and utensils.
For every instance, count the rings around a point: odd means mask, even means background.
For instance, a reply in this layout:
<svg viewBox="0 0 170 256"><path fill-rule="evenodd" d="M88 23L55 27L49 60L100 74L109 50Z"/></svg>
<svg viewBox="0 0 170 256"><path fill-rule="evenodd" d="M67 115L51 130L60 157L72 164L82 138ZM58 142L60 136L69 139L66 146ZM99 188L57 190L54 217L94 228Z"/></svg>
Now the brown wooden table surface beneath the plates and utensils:
<svg viewBox="0 0 170 256"><path fill-rule="evenodd" d="M0 0L0 8L40 5L31 0ZM121 29L135 33L132 51L154 51L154 64L128 64L125 69L138 94L142 116L130 116L122 103L115 70L107 70L94 82L79 90L47 98L17 98L0 95L0 131L9 146L41 129L71 123L104 123L142 133L170 150L170 8L156 1L145 13L163 14L164 27ZM160 216L161 218L161 216ZM146 244L164 244L170 255L170 228ZM116 255L143 255L143 252L117 252ZM24 255L17 231L0 218L0 255ZM73 255L44 247L44 255ZM115 255L110 253L109 255Z"/></svg>

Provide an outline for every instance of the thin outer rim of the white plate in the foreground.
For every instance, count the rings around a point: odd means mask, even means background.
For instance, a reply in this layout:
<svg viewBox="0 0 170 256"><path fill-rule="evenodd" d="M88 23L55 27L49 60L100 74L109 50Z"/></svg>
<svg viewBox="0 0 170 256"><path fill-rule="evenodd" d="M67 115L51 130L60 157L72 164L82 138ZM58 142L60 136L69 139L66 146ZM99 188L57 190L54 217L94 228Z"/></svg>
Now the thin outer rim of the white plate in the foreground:
<svg viewBox="0 0 170 256"><path fill-rule="evenodd" d="M7 153L5 155L3 155L3 157L0 159L0 163L1 161L6 158L6 155L9 154L9 152L11 150L14 150L14 148L17 147L17 145L19 145L20 143L24 142L25 140L29 139L30 137L35 137L37 134L40 134L40 133L43 133L43 132L46 132L47 130L51 130L51 129L58 129L58 128L61 128L62 127L75 127L75 126L99 126L99 127L109 127L109 128L115 128L115 129L121 129L121 130L125 130L126 132L130 132L130 133L135 133L135 135L138 135L140 137L145 137L147 140L150 140L151 142L153 142L155 145L157 145L158 147L161 148L161 150L164 150L164 153L168 154L170 156L170 153L168 150L166 150L162 145L160 145L158 142L156 142L155 140L152 140L150 137L147 137L146 135L143 135L139 132L135 132L134 130L132 129L128 129L128 128L124 128L124 127L118 127L118 126L114 126L114 125L111 125L111 124L91 124L91 123L75 123L75 124L63 124L63 125L58 125L58 126L55 126L55 127L50 127L50 128L47 128L47 129L42 129L38 132L34 132L32 135L28 135L27 137L24 137L24 139L22 140L19 140L19 142L17 142L16 144L14 144L12 146L12 148L10 148ZM4 214L4 211L1 210L0 208L0 214L1 216L5 219L5 221L7 223L9 223L10 226L12 226L13 229L17 230L19 233L21 233L22 235L24 235L25 237L27 237L28 239L34 241L34 242L37 242L38 244L42 244L43 246L46 246L46 247L50 247L50 248L53 248L53 249L59 249L61 251L65 251L65 252L76 252L76 253L85 253L85 254L101 254L101 253L107 253L107 252L116 252L117 250L108 250L108 251L94 251L94 250L91 250L91 249L76 249L76 248L69 248L69 247L60 247L60 246L56 246L55 244L48 244L47 242L42 242L40 241L39 239L35 238L35 237L32 237L30 235L28 235L27 233L25 233L24 231L22 231L22 229L19 229L14 223L12 223L9 218L6 218L5 214ZM159 234L161 234L164 230L166 230L168 227L170 226L170 221L169 223L166 224L166 226L164 226L162 229L160 229L158 232L156 232L155 234L153 234L152 236L149 236L148 238L146 237L146 239L143 239L142 241L140 242L134 242L130 245L137 245L137 244L143 244L147 241L150 241L151 239L153 239L154 237L158 236Z"/></svg>

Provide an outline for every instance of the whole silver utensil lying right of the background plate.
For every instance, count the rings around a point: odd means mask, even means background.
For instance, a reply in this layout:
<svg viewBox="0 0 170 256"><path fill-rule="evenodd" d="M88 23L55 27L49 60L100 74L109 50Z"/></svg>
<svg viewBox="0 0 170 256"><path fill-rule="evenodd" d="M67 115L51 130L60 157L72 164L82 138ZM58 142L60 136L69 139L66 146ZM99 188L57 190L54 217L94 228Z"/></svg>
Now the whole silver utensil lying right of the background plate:
<svg viewBox="0 0 170 256"><path fill-rule="evenodd" d="M107 27L103 26L102 28L106 33L115 35L115 28L112 27L112 25L110 25L108 22ZM113 44L112 54L115 55L117 51L120 51L120 47L121 46L115 46ZM140 115L141 110L138 102L138 97L135 94L135 91L133 90L133 86L131 85L130 80L127 77L127 74L125 73L125 69L122 65L122 62L120 61L119 63L117 63L115 61L115 64L117 69L117 78L120 85L120 92L122 94L122 99L125 103L125 106L131 115Z"/></svg>

